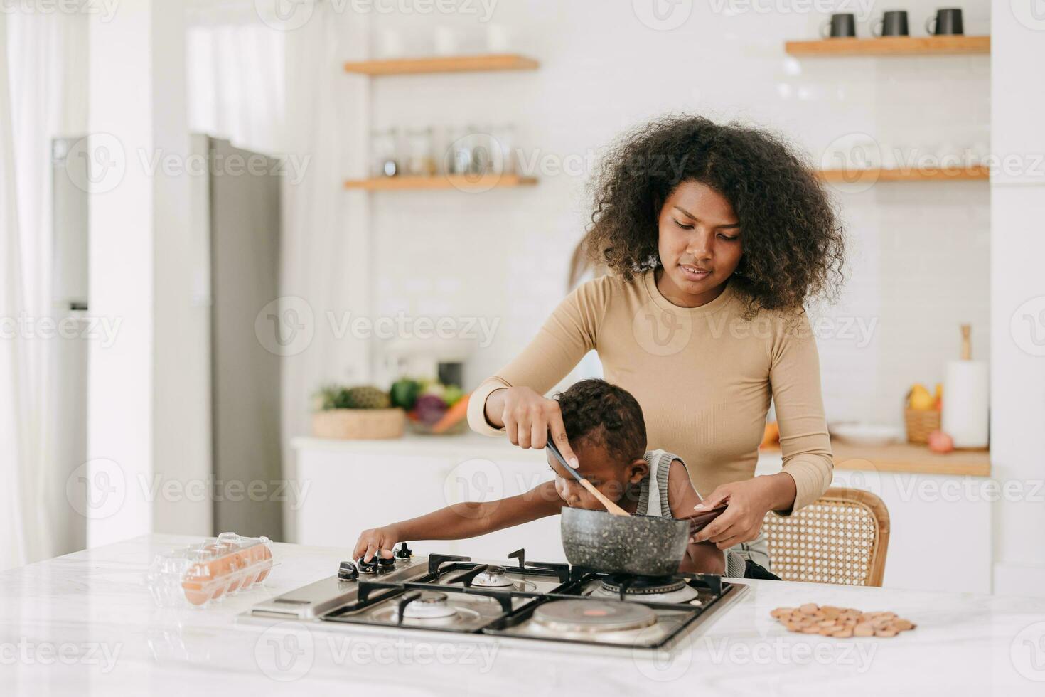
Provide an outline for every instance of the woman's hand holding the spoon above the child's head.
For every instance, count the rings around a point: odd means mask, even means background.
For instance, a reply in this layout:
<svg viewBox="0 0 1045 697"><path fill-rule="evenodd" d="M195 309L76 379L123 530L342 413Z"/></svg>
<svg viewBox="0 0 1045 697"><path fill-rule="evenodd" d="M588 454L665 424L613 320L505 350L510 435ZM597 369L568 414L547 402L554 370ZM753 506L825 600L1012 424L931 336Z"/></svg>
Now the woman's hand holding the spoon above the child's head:
<svg viewBox="0 0 1045 697"><path fill-rule="evenodd" d="M519 447L542 450L551 433L562 459L577 469L577 456L570 447L562 412L556 400L547 399L527 387L495 390L486 399L486 416L494 426L503 425L508 440Z"/></svg>

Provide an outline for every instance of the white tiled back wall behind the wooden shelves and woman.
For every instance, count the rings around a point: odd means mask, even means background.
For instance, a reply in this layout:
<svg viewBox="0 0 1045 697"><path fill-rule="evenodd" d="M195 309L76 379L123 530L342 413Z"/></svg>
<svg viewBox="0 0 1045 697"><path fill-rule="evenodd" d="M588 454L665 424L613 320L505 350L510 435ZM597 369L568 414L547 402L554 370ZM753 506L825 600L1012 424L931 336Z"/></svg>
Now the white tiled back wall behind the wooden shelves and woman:
<svg viewBox="0 0 1045 697"><path fill-rule="evenodd" d="M503 0L491 22L508 27L513 48L538 59L539 70L374 80L374 127L514 122L531 153L583 163L576 173L538 171L532 189L373 194L375 315L498 318L495 342L468 366L469 387L497 370L564 295L599 148L665 112L761 124L816 162L832 141L858 132L886 152L989 140L986 56L796 61L784 42L813 38L823 16L729 15L719 5L745 6L695 2L681 26L658 31L628 2ZM905 3L915 34L936 5ZM986 0L962 6L967 33L989 32ZM392 28L427 53L435 25L469 37L471 49L487 26L475 17L378 16L373 41L379 46ZM867 36L867 23L858 31ZM853 241L851 280L829 316L874 333L866 344L821 338L828 416L900 424L909 386L942 381L957 356L959 323L973 324L974 354L989 355L989 187L878 184L837 200Z"/></svg>

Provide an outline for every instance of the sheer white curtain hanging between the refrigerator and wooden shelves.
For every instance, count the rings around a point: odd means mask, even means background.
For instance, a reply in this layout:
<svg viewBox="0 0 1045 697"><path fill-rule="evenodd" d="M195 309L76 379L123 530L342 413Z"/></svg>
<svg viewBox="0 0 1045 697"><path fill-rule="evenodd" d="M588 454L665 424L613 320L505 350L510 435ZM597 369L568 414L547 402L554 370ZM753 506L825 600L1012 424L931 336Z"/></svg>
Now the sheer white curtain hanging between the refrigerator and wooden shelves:
<svg viewBox="0 0 1045 697"><path fill-rule="evenodd" d="M309 347L283 359L283 463L293 477L291 440L311 431L311 395L331 381L370 377L368 344L338 339L329 316L370 308L368 194L343 188L347 178L366 175L369 110L367 79L347 75L345 61L366 57L364 16L316 6L305 26L287 32L287 149L310 157L300 184L283 184L282 294L305 299L315 335ZM295 539L294 516L284 530Z"/></svg>

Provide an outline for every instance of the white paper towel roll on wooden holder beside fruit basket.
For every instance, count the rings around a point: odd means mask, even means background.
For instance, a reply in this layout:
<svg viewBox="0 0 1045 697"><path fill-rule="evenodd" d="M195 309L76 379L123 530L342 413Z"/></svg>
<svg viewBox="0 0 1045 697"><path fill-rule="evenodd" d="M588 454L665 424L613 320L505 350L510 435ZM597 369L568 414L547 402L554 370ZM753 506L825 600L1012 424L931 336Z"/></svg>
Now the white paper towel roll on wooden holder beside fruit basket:
<svg viewBox="0 0 1045 697"><path fill-rule="evenodd" d="M982 361L949 361L940 427L954 447L986 447L988 367Z"/></svg>

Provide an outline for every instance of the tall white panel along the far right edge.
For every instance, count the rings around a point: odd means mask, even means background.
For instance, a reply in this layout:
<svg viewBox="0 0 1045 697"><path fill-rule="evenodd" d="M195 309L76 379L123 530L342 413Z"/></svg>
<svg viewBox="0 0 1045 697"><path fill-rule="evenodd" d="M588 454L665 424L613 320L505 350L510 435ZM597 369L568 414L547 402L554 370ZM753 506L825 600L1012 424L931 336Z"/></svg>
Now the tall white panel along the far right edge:
<svg viewBox="0 0 1045 697"><path fill-rule="evenodd" d="M1045 154L1045 83L1028 79L1045 60L1045 20L1007 3L993 18L992 109L999 155ZM991 459L1014 492L995 506L995 591L1045 594L1045 181L1040 169L991 183Z"/></svg>

